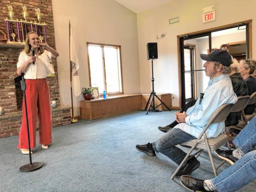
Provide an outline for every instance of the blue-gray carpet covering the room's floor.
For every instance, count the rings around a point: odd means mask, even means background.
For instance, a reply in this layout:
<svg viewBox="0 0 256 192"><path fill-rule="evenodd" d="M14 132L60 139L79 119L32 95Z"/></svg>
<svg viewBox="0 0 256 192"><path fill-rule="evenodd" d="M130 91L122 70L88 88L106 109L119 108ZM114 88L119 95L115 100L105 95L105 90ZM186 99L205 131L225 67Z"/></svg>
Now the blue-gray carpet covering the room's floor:
<svg viewBox="0 0 256 192"><path fill-rule="evenodd" d="M28 173L19 172L29 156L16 148L18 136L0 139L0 192L184 192L178 179L170 180L176 164L159 153L150 157L135 148L162 136L158 125L172 120L173 111L131 112L54 128L51 147L33 150L32 160L44 166ZM199 160L200 168L192 176L212 178L207 153ZM219 172L228 166L225 163ZM255 187L248 184L240 192L253 192Z"/></svg>

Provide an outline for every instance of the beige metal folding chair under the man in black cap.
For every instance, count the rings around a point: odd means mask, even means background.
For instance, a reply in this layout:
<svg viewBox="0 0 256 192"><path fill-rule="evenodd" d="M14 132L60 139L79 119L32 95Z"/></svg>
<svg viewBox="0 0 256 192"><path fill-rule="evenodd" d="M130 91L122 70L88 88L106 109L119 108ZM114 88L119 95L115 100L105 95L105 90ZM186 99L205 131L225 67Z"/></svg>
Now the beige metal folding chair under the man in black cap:
<svg viewBox="0 0 256 192"><path fill-rule="evenodd" d="M197 158L204 149L206 149L208 151L208 155L211 160L214 175L217 176L216 169L220 168L221 165L218 166L217 168L215 167L211 151L215 151L216 149L220 148L220 146L222 146L224 143L226 143L228 141L228 136L226 134L221 133L216 138L208 139L205 132L211 124L224 122L224 120L226 120L226 118L227 118L228 114L230 113L230 111L232 110L232 108L233 108L233 104L223 104L222 106L217 108L216 111L212 114L212 116L208 120L207 125L205 126L203 131L200 133L198 138L195 140L191 140L191 141L182 143L185 146L191 147L191 149L189 150L187 155L184 157L184 159L182 160L182 162L180 163L178 168L175 170L175 172L171 176L171 179L173 179L176 176L177 172L180 170L180 168L182 167L182 165L185 162L187 162L193 156L197 155L196 156L196 158ZM190 154L192 153L194 148L199 148L199 150L195 154L190 156Z"/></svg>

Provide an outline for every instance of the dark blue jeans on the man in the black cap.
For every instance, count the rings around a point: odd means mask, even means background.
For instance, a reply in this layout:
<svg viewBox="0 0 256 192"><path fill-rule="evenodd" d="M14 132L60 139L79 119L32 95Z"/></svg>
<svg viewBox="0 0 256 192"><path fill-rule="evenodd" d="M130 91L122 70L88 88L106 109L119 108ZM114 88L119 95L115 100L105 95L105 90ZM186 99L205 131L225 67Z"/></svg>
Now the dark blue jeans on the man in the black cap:
<svg viewBox="0 0 256 192"><path fill-rule="evenodd" d="M193 139L196 139L196 137L178 128L173 128L164 136L153 142L153 148L155 152L160 152L165 156L168 156L172 161L179 165L187 153L180 148L177 148L176 145Z"/></svg>

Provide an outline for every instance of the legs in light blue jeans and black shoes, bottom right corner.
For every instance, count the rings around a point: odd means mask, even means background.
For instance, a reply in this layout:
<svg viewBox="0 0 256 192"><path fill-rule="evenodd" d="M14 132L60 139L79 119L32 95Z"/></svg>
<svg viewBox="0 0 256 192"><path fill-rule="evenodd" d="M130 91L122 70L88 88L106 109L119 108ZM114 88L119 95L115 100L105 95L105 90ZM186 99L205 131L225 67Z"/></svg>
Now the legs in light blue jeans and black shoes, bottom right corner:
<svg viewBox="0 0 256 192"><path fill-rule="evenodd" d="M198 180L191 176L181 176L185 188L198 192L217 190L234 192L256 179L256 116L236 136L236 150L218 150L218 156L233 164L212 180Z"/></svg>

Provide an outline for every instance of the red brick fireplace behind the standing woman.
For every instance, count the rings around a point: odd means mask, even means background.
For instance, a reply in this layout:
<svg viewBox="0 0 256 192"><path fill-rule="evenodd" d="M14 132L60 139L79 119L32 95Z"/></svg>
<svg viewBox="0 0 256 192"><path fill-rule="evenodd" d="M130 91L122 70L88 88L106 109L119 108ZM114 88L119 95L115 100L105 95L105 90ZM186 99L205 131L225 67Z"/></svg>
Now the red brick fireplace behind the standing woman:
<svg viewBox="0 0 256 192"><path fill-rule="evenodd" d="M0 4L0 30L6 33L4 19L8 17L7 4L11 4L15 11L15 19L22 18L24 4L28 10L28 20L37 21L34 8L41 10L41 21L47 23L47 42L55 48L54 25L52 16L52 0L2 0ZM20 76L16 74L16 64L19 54L24 48L22 44L7 44L0 42L0 107L6 112L0 116L0 138L17 135L22 119L23 92L20 90ZM71 124L70 107L60 106L58 89L57 62L52 60L55 77L48 77L51 101L55 100L57 108L52 109L52 127Z"/></svg>

